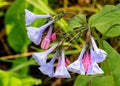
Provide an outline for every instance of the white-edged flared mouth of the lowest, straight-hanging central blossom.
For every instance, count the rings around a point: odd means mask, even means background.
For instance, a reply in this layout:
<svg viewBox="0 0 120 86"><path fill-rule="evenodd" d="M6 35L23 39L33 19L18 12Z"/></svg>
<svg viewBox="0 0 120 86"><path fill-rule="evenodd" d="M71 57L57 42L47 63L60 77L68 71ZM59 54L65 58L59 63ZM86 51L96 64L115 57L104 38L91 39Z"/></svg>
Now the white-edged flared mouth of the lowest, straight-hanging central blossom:
<svg viewBox="0 0 120 86"><path fill-rule="evenodd" d="M56 69L54 77L56 77L56 78L71 78L69 72L67 71L67 68L63 67L63 66L58 67Z"/></svg>

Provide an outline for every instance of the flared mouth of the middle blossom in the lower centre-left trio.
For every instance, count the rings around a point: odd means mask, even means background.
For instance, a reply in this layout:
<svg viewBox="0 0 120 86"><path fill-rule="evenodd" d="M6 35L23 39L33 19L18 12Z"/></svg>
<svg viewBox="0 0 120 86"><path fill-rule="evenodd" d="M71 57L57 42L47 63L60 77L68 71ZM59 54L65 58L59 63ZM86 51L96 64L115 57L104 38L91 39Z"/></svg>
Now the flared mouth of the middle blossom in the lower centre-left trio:
<svg viewBox="0 0 120 86"><path fill-rule="evenodd" d="M48 75L49 77L53 77L53 74L54 74L54 65L50 64L50 63L47 63L47 64L44 64L44 65L41 65L41 67L39 67L39 70L43 74Z"/></svg>

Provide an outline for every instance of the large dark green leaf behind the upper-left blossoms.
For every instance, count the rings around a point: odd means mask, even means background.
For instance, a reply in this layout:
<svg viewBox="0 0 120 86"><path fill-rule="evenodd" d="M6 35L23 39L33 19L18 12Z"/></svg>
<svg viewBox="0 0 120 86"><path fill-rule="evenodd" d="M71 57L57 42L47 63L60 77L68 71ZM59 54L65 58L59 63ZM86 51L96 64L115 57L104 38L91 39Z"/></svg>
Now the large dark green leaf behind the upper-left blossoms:
<svg viewBox="0 0 120 86"><path fill-rule="evenodd" d="M25 0L16 0L5 16L7 40L17 52L25 52L30 44L25 29L24 4Z"/></svg>

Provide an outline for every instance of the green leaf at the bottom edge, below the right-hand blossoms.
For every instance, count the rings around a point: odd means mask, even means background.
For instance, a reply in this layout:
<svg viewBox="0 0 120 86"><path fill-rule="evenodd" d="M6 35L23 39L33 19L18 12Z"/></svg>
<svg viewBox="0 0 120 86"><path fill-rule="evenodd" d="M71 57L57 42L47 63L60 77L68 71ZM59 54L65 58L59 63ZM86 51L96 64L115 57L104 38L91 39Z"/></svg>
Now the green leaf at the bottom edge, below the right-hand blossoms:
<svg viewBox="0 0 120 86"><path fill-rule="evenodd" d="M113 86L114 80L112 76L103 75L79 75L74 86Z"/></svg>

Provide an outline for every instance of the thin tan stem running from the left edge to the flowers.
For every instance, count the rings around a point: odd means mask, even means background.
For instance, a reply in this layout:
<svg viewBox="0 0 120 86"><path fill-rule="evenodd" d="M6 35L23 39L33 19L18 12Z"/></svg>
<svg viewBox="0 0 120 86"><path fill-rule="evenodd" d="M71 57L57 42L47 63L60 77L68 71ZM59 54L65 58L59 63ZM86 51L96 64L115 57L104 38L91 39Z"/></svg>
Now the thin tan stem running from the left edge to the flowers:
<svg viewBox="0 0 120 86"><path fill-rule="evenodd" d="M24 56L31 56L33 53L34 52L27 52L27 53L23 53L23 54L3 56L3 57L0 57L0 60L13 59L13 58L24 57Z"/></svg>

